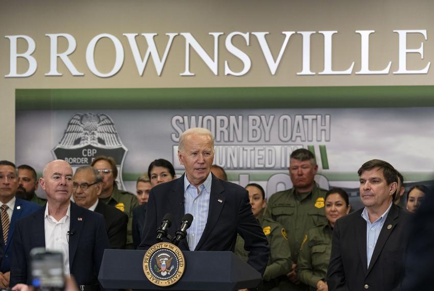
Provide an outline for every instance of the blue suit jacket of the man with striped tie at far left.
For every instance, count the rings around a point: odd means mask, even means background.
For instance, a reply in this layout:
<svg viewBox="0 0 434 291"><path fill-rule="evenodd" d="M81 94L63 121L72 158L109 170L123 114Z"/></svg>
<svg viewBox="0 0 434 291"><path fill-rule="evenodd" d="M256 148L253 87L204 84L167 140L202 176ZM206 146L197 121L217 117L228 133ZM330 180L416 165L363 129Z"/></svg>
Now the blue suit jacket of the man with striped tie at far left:
<svg viewBox="0 0 434 291"><path fill-rule="evenodd" d="M13 234L15 232L16 222L22 217L25 217L38 209L41 209L41 206L32 202L28 202L26 200L16 198L14 210L12 211L11 224L8 232L8 243L6 244L6 246L5 242L3 241L3 235L0 235L2 237L2 244L0 246L0 256L2 258L0 264L0 272L5 273L11 270ZM1 227L2 224L0 223L0 228ZM3 230L1 233L3 233Z"/></svg>

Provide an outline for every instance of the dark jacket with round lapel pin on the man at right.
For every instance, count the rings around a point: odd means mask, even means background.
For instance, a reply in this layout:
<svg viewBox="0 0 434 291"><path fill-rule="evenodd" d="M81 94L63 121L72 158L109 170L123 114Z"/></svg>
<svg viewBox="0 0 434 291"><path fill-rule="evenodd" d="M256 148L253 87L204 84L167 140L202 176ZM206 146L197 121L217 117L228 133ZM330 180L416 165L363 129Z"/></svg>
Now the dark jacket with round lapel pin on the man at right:
<svg viewBox="0 0 434 291"><path fill-rule="evenodd" d="M333 229L327 285L334 290L400 290L412 214L392 204L367 267L363 208L337 220Z"/></svg>

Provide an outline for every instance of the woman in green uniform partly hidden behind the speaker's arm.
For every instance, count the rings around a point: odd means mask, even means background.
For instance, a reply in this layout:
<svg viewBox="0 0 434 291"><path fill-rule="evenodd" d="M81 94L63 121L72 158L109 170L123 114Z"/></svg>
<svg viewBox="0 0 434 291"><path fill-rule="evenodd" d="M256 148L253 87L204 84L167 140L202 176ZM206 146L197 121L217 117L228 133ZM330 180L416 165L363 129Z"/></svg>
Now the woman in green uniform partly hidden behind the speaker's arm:
<svg viewBox="0 0 434 291"><path fill-rule="evenodd" d="M285 229L277 222L264 217L263 210L266 206L265 192L256 183L246 186L249 192L250 205L253 215L261 225L270 245L270 258L267 269L263 275L263 282L257 290L280 290L278 288L280 278L286 279L286 274L291 271L291 251ZM248 252L244 249L244 239L238 234L235 244L235 254L247 261Z"/></svg>

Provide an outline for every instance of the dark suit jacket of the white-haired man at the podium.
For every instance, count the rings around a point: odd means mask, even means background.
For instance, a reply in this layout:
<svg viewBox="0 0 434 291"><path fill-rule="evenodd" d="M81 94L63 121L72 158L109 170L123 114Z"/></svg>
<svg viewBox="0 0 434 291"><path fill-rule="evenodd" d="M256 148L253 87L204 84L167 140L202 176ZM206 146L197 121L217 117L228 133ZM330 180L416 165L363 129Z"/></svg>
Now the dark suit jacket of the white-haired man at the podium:
<svg viewBox="0 0 434 291"><path fill-rule="evenodd" d="M212 175L212 174L211 174ZM184 175L176 180L152 188L147 211L143 240L138 249L148 249L156 243L156 230L166 213L174 215L168 233L174 235L184 216ZM263 274L270 253L267 238L253 216L247 190L220 180L212 175L208 219L195 251L232 251L236 234L245 240L250 252L248 263ZM187 240L180 241L181 250L189 250Z"/></svg>

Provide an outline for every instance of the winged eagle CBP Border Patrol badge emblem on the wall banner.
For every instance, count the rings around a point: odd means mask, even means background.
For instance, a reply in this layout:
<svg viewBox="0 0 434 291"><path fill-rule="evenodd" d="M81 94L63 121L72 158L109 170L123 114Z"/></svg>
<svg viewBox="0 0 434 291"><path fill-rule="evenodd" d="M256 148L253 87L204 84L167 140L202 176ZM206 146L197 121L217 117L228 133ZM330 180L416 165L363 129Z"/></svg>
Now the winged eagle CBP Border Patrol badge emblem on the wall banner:
<svg viewBox="0 0 434 291"><path fill-rule="evenodd" d="M67 161L75 170L89 165L97 156L113 157L121 188L122 167L128 149L124 146L113 120L105 113L75 113L69 119L59 144L52 150L56 159Z"/></svg>

